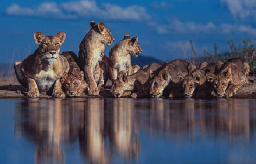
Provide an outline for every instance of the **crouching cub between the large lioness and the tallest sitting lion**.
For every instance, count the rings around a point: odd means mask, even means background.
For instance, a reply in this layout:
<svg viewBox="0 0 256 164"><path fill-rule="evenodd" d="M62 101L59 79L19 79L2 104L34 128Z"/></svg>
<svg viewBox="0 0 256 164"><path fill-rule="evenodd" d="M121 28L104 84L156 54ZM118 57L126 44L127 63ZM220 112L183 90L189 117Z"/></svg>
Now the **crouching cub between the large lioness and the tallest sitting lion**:
<svg viewBox="0 0 256 164"><path fill-rule="evenodd" d="M68 97L80 97L87 88L87 84L84 81L84 73L80 71L77 64L79 62L78 57L72 51L62 52L62 55L67 58L69 62L69 72L64 73L60 82L64 85Z"/></svg>

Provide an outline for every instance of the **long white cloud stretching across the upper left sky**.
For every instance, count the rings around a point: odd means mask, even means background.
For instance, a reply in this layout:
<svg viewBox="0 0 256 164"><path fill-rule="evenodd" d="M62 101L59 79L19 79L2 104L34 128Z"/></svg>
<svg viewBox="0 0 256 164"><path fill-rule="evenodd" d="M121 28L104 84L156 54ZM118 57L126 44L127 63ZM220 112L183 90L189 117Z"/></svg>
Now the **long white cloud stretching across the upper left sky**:
<svg viewBox="0 0 256 164"><path fill-rule="evenodd" d="M57 19L100 18L104 20L148 20L150 15L141 6L120 7L116 4L102 3L98 6L96 1L81 0L57 4L43 2L38 6L20 7L13 4L6 8L7 15L30 16Z"/></svg>

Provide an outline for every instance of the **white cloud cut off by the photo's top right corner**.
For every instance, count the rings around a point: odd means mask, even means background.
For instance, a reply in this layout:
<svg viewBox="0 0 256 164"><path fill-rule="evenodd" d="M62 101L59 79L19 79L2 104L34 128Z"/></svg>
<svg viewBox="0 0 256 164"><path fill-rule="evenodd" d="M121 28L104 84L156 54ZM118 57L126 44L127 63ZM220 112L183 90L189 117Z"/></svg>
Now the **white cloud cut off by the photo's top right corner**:
<svg viewBox="0 0 256 164"><path fill-rule="evenodd" d="M228 7L233 17L256 19L256 0L220 0L220 3Z"/></svg>

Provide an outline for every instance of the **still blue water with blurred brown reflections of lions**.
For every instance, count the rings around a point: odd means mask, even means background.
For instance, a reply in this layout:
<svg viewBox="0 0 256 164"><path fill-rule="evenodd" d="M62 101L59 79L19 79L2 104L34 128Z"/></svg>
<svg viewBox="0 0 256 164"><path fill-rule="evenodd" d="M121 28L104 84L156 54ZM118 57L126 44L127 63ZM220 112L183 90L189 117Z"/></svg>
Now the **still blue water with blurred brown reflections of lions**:
<svg viewBox="0 0 256 164"><path fill-rule="evenodd" d="M255 100L1 99L1 163L254 163Z"/></svg>

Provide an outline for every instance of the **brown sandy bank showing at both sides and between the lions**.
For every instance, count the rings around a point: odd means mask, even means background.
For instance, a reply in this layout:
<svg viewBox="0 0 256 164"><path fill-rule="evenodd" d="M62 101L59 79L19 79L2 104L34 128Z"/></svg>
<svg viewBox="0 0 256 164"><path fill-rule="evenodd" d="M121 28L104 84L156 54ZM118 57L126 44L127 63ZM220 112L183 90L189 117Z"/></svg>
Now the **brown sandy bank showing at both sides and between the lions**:
<svg viewBox="0 0 256 164"><path fill-rule="evenodd" d="M232 98L256 98L256 77L248 76L249 84L243 85L236 95ZM98 97L113 97L109 94L111 81L106 84L105 92L99 94ZM26 89L20 85L17 80L0 80L0 98L26 98ZM88 98L87 93L83 93L82 97ZM51 95L40 95L39 97L52 97Z"/></svg>

